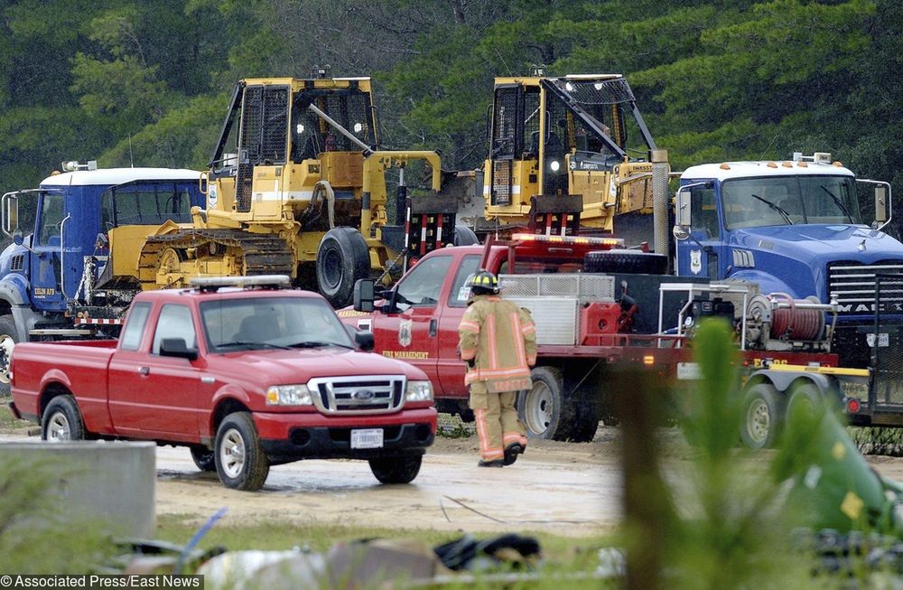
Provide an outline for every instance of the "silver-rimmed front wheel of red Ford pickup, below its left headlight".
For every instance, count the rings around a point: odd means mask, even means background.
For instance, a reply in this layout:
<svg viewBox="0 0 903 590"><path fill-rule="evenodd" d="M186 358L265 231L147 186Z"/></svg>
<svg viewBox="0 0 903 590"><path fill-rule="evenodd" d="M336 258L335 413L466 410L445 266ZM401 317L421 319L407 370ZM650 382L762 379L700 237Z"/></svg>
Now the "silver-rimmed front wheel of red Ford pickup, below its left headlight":
<svg viewBox="0 0 903 590"><path fill-rule="evenodd" d="M214 448L219 481L227 488L256 492L264 487L270 462L247 412L229 414L217 429Z"/></svg>

